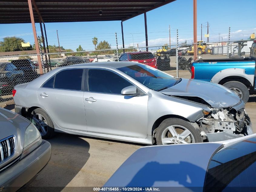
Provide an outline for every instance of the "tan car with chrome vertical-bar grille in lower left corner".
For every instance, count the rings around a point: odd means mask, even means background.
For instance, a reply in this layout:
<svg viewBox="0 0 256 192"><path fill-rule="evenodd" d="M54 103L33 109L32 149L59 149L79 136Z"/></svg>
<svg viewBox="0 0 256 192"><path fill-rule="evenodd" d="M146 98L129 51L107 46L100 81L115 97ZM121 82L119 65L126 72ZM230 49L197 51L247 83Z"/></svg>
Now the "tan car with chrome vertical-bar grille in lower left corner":
<svg viewBox="0 0 256 192"><path fill-rule="evenodd" d="M0 108L0 189L16 191L33 180L51 158L51 144L24 117Z"/></svg>

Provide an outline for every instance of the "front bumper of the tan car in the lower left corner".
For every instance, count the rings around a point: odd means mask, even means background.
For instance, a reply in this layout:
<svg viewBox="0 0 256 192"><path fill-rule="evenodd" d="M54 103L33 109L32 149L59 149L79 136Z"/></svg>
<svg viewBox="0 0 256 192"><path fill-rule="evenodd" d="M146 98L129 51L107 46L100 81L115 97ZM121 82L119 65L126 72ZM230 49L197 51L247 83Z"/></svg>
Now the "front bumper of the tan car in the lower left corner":
<svg viewBox="0 0 256 192"><path fill-rule="evenodd" d="M16 191L32 181L48 164L51 153L51 144L43 140L32 153L1 173L0 191Z"/></svg>

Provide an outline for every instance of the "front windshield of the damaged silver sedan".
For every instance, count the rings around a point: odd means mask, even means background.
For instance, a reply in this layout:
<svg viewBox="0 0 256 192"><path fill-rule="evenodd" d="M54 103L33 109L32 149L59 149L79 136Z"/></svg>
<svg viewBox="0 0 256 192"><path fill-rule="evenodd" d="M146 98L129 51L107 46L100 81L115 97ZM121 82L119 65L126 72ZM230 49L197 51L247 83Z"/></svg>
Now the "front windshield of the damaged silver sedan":
<svg viewBox="0 0 256 192"><path fill-rule="evenodd" d="M142 64L120 67L117 69L155 91L167 89L179 80L178 78L170 76L153 67Z"/></svg>

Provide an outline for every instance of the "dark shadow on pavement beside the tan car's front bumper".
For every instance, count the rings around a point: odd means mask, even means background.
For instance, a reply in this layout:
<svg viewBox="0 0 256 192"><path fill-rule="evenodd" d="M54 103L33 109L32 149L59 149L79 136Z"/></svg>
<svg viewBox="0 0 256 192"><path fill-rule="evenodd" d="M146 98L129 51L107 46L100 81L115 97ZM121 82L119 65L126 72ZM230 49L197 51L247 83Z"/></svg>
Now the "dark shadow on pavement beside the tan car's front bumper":
<svg viewBox="0 0 256 192"><path fill-rule="evenodd" d="M52 145L51 160L38 177L20 191L61 191L90 157L89 143L79 137L57 133L48 140Z"/></svg>

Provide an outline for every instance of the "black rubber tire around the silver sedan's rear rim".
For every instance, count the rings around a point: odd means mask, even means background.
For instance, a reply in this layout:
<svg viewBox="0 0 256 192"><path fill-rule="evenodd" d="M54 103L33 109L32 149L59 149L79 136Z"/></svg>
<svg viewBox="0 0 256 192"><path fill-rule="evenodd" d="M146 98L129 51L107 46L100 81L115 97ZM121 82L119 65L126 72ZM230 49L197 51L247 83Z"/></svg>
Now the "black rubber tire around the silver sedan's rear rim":
<svg viewBox="0 0 256 192"><path fill-rule="evenodd" d="M33 123L32 119L35 114L41 114L44 117L44 119L46 120L47 125L48 125L45 135L42 135L42 132L39 131L41 133L42 139L52 138L52 136L54 135L54 125L52 123L50 116L43 109L37 108L37 109L33 110L30 115L30 121L32 123Z"/></svg>

